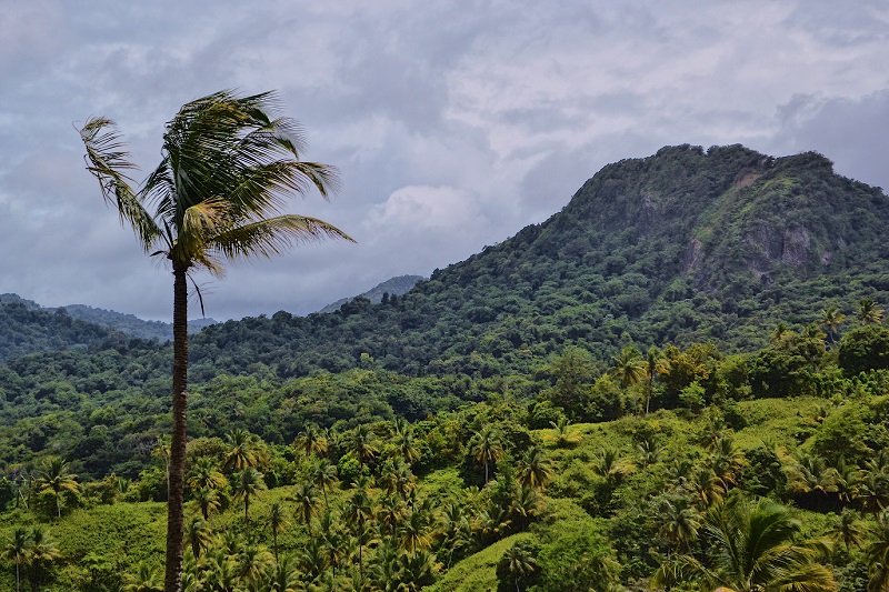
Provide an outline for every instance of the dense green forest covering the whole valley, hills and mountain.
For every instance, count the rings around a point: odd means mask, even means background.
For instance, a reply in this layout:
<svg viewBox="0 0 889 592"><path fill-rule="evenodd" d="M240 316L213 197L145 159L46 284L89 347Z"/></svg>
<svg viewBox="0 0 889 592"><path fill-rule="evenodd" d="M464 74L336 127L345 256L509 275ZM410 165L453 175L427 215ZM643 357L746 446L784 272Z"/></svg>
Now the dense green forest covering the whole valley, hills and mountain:
<svg viewBox="0 0 889 592"><path fill-rule="evenodd" d="M186 590L887 590L887 222L820 154L670 147L403 295L203 329ZM0 325L0 588L157 589L169 344Z"/></svg>

